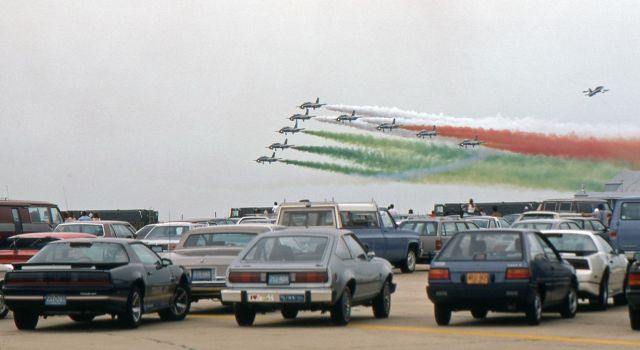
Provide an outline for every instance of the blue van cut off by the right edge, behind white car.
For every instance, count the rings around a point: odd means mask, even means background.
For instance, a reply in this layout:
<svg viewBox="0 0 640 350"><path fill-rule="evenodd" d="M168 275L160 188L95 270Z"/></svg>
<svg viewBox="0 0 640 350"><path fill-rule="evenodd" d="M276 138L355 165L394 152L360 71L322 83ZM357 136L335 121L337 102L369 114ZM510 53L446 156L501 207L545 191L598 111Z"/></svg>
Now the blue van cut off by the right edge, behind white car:
<svg viewBox="0 0 640 350"><path fill-rule="evenodd" d="M620 198L613 207L609 237L627 258L640 252L640 197Z"/></svg>

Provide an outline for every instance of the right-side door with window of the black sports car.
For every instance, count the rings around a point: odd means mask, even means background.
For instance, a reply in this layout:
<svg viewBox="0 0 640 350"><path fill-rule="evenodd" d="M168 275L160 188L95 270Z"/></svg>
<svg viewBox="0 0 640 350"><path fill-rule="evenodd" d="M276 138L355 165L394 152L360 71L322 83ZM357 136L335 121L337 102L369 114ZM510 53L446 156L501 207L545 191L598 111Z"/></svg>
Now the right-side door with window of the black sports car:
<svg viewBox="0 0 640 350"><path fill-rule="evenodd" d="M173 295L175 277L168 266L154 251L142 243L132 244L131 248L138 256L146 272L145 308L157 309L166 306Z"/></svg>

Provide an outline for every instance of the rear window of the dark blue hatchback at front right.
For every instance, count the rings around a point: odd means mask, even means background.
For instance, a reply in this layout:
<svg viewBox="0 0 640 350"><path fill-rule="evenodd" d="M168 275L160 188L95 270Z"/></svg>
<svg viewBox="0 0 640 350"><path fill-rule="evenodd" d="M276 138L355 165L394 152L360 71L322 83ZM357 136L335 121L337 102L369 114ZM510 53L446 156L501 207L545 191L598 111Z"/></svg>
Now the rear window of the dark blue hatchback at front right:
<svg viewBox="0 0 640 350"><path fill-rule="evenodd" d="M439 261L519 261L522 259L522 239L520 234L515 232L459 233L438 255Z"/></svg>

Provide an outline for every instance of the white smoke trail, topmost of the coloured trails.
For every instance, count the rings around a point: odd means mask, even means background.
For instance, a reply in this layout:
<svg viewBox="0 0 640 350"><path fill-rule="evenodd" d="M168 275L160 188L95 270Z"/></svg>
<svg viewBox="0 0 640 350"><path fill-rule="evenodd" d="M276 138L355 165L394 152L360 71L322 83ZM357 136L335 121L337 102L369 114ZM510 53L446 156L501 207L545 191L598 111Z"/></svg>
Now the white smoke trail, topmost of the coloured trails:
<svg viewBox="0 0 640 350"><path fill-rule="evenodd" d="M493 130L509 130L519 132L543 133L548 135L575 135L577 137L595 138L638 138L640 137L640 127L636 125L616 125L588 124L572 122L551 122L549 120L525 118L508 118L501 115L495 117L454 117L415 111L406 111L397 107L379 106L350 106L350 105L327 105L326 109L336 112L351 113L356 111L361 119L361 123L382 123L389 122L391 118L396 118L396 123L400 125L436 125L452 127L468 127ZM319 121L328 121L326 118L317 118ZM335 118L334 118L335 120ZM348 123L348 122L347 122Z"/></svg>

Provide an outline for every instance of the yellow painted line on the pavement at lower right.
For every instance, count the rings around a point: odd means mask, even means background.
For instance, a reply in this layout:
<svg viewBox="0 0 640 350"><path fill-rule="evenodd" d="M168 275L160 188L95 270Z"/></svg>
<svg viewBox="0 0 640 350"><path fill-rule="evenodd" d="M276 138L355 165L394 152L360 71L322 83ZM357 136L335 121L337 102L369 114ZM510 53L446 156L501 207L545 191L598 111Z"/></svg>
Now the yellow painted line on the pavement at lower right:
<svg viewBox="0 0 640 350"><path fill-rule="evenodd" d="M491 331L470 331L470 330L453 330L434 327L405 327L405 326L376 326L376 325L349 325L349 328L358 328L373 331L392 331L407 333L431 333L461 336L476 336L485 338L508 338L519 340L542 340L560 343L573 344L594 344L594 345L620 345L640 347L640 341L615 340L615 339L599 339L599 338L580 338L580 337L564 337L556 335L536 335L524 333L506 333Z"/></svg>

